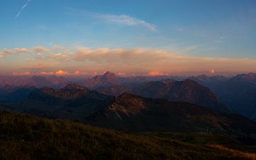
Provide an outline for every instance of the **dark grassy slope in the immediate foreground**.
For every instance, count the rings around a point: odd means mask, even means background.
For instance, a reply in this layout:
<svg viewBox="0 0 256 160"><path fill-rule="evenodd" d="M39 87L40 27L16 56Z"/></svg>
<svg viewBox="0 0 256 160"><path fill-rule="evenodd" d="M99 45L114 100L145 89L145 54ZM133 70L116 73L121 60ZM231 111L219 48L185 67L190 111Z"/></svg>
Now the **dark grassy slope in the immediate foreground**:
<svg viewBox="0 0 256 160"><path fill-rule="evenodd" d="M206 133L124 133L0 112L0 159L246 159L220 142L238 145Z"/></svg>

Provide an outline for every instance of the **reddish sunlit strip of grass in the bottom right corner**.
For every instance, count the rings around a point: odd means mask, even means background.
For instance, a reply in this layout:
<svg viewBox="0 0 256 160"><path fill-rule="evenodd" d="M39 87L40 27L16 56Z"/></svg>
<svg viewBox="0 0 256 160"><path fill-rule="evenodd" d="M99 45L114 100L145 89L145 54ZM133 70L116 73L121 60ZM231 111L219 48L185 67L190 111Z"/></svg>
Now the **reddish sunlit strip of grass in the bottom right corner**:
<svg viewBox="0 0 256 160"><path fill-rule="evenodd" d="M242 152L237 149L230 149L228 147L225 147L220 144L210 144L210 147L213 147L215 149L220 149L225 152L230 152L234 158L238 159L252 159L256 160L256 154L255 153L249 153L249 152Z"/></svg>

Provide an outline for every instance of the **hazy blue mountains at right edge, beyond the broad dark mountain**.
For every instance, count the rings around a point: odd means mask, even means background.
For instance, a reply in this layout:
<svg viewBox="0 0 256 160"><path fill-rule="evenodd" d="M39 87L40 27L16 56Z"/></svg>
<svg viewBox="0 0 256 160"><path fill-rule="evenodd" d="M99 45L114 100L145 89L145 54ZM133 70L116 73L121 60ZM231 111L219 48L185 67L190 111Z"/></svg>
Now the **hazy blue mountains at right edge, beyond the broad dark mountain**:
<svg viewBox="0 0 256 160"><path fill-rule="evenodd" d="M256 119L256 74L233 77L201 75L190 79L208 86L235 113Z"/></svg>

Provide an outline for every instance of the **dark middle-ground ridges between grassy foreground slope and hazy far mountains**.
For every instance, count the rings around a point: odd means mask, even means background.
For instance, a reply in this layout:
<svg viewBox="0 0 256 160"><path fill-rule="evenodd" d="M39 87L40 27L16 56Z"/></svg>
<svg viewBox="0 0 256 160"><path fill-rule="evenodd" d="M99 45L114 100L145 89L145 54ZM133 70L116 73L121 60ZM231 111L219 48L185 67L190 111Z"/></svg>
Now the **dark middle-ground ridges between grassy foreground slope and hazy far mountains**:
<svg viewBox="0 0 256 160"><path fill-rule="evenodd" d="M214 132L238 137L256 132L256 122L208 106L130 93L107 96L78 84L68 84L59 90L36 89L22 101L1 103L1 108L115 130Z"/></svg>

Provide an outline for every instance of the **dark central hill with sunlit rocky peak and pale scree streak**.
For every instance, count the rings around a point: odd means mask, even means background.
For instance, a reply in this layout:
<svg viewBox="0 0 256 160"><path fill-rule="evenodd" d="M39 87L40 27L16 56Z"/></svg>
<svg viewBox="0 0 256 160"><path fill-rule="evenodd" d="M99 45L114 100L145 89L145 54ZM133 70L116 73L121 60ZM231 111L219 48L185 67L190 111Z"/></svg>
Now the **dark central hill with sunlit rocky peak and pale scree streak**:
<svg viewBox="0 0 256 160"><path fill-rule="evenodd" d="M171 102L123 93L87 122L129 131L210 132L236 137L254 135L256 122L192 103Z"/></svg>

